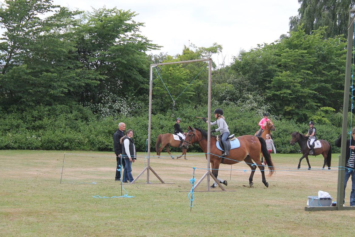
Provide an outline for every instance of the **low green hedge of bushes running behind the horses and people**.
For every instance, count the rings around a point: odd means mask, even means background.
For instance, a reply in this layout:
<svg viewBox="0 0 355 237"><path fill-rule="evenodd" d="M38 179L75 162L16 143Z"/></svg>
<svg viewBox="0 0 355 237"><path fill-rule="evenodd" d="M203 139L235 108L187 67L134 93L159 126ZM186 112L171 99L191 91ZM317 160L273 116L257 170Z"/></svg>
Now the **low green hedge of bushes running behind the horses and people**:
<svg viewBox="0 0 355 237"><path fill-rule="evenodd" d="M260 115L254 112L247 112L233 105L213 105L211 111L221 107L224 110L226 122L229 125L231 134L236 136L253 135L260 128L258 122ZM207 124L198 117L207 117L207 106L185 106L172 112L158 113L152 115L151 124L151 152L155 152L155 141L159 134L173 133L176 117L181 118L181 129L187 131L187 126L207 130ZM339 114L333 114L329 120L339 123ZM118 123L126 123L126 130L133 129L137 151L146 151L148 139L148 112L126 118L102 118L91 113L88 109L77 105L68 106L39 106L36 109L23 113L12 112L6 114L0 112L2 123L0 124L0 149L31 149L31 150L92 150L92 151L113 151L112 136L118 129ZM276 131L273 140L278 153L297 152L300 148L296 144L290 145L290 134L294 131L307 133L308 121L298 124L293 120L276 118L271 115ZM217 126L212 126L217 128ZM334 146L341 128L330 124L316 124L317 137L327 140L332 145L333 152L340 152ZM218 134L218 133L215 133ZM179 148L171 148L172 151L180 151ZM189 147L190 152L202 152L197 144Z"/></svg>

